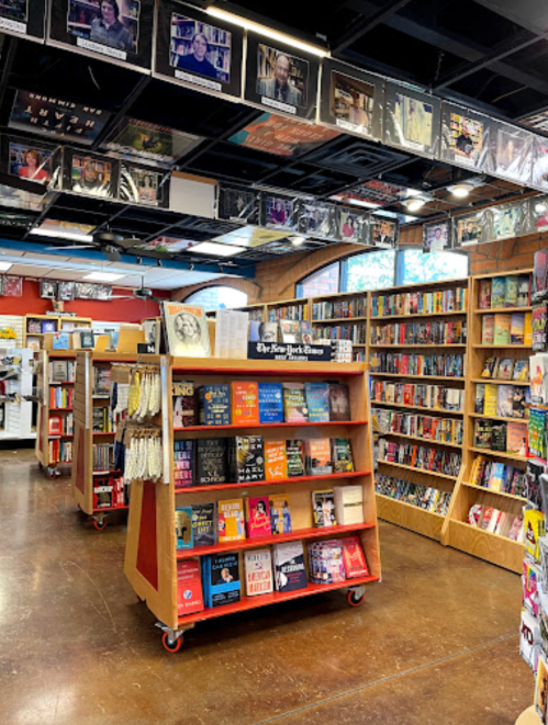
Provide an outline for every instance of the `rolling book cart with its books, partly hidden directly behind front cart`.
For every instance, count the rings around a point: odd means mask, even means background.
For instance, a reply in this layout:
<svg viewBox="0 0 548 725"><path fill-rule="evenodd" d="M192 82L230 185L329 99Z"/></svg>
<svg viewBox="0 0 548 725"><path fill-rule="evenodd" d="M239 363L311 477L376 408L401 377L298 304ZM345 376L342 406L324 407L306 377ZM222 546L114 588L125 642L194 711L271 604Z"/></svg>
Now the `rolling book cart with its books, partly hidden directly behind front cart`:
<svg viewBox="0 0 548 725"><path fill-rule="evenodd" d="M128 487L114 466L116 424L125 417L130 365L134 354L78 352L74 386L72 496L92 517L96 529L107 525L107 512L128 508Z"/></svg>

